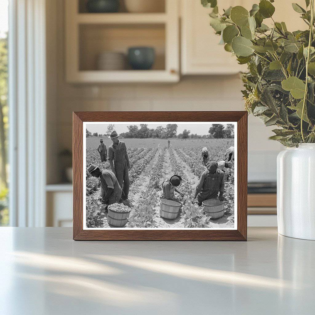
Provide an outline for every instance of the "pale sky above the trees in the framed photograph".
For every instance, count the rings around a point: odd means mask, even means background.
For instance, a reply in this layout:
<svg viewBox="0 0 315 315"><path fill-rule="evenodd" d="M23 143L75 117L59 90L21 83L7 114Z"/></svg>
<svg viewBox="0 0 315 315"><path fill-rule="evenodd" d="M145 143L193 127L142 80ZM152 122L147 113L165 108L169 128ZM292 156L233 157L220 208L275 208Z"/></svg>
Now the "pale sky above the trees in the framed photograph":
<svg viewBox="0 0 315 315"><path fill-rule="evenodd" d="M207 135L209 128L212 126L212 123L178 123L177 124L177 135L182 133L184 129L190 130L192 134L198 135ZM138 123L115 123L115 130L118 134L122 132L127 132L129 125L137 125L140 128ZM148 128L156 128L157 126L166 127L167 123L148 123ZM226 126L226 124L223 124ZM86 128L93 134L97 132L99 134L105 134L107 132L108 123L86 123Z"/></svg>

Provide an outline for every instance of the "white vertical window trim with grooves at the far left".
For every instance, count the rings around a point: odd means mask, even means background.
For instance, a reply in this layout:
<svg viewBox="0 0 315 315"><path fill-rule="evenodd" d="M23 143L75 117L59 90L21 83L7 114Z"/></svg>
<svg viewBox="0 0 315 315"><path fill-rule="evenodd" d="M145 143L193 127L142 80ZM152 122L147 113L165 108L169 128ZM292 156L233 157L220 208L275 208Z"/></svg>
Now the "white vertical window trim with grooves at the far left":
<svg viewBox="0 0 315 315"><path fill-rule="evenodd" d="M46 221L45 0L9 1L10 225Z"/></svg>

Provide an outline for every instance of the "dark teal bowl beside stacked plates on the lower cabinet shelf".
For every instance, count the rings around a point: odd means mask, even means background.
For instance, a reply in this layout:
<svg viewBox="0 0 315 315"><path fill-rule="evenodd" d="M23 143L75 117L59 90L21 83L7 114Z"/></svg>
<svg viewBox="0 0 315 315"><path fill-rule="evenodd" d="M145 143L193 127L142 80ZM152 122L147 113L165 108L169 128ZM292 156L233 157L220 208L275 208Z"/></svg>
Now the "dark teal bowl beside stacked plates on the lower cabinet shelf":
<svg viewBox="0 0 315 315"><path fill-rule="evenodd" d="M155 61L155 49L153 47L130 47L128 61L134 70L149 70Z"/></svg>

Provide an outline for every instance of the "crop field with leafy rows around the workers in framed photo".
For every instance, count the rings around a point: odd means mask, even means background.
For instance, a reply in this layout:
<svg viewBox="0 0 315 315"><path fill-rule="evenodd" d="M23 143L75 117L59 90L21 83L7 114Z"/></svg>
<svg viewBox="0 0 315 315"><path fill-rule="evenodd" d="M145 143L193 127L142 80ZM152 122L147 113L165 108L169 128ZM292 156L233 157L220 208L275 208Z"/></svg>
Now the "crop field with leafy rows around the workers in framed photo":
<svg viewBox="0 0 315 315"><path fill-rule="evenodd" d="M103 138L108 148L112 141ZM209 159L225 159L225 151L234 145L233 139L172 139L169 149L167 139L122 139L127 147L131 169L129 171L129 200L132 204L128 223L124 228L231 228L234 227L234 165L226 171L225 214L219 219L211 219L203 213L203 208L192 203L200 175L206 169L202 163L201 149L206 146ZM110 169L107 162L101 164L96 151L100 143L98 137L86 138L86 165L93 163L100 170ZM160 217L161 185L171 175L183 179L178 187L184 193L180 215L169 220ZM98 200L100 179L86 172L86 226L108 228L107 212ZM177 194L179 197L179 195Z"/></svg>

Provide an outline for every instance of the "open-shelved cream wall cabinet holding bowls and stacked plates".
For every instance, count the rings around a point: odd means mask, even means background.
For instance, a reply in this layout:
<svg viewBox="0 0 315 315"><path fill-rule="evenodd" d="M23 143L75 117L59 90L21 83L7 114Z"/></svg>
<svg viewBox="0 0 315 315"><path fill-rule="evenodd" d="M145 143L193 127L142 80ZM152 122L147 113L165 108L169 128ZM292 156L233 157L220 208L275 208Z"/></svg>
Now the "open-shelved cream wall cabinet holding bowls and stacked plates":
<svg viewBox="0 0 315 315"><path fill-rule="evenodd" d="M162 1L162 0L160 0ZM84 0L65 2L66 81L69 83L179 81L178 0L164 0L164 12L89 13ZM99 70L97 59L106 52L129 47L155 49L150 70Z"/></svg>

